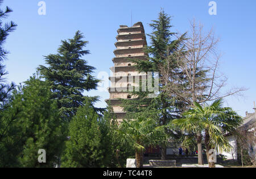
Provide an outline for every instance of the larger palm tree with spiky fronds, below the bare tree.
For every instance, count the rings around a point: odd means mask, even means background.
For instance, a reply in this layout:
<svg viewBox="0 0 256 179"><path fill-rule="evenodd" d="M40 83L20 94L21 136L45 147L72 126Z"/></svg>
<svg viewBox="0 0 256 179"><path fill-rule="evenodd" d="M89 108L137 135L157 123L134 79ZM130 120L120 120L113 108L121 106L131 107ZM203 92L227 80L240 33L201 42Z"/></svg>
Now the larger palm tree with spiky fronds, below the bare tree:
<svg viewBox="0 0 256 179"><path fill-rule="evenodd" d="M220 151L230 151L232 146L223 135L224 132L234 132L242 124L242 118L230 107L222 107L223 99L217 99L212 105L204 107L194 103L194 109L183 114L183 119L175 119L172 124L182 131L193 134L204 134L204 142L209 167L215 167L209 162L210 149L217 148Z"/></svg>

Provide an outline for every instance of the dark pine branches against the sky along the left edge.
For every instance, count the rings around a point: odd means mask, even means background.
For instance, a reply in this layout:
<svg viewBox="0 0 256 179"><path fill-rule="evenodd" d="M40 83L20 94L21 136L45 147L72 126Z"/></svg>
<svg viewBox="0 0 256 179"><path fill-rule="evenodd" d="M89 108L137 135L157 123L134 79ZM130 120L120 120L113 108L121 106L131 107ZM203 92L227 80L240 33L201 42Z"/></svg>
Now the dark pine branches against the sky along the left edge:
<svg viewBox="0 0 256 179"><path fill-rule="evenodd" d="M0 5L2 5L3 0L0 0ZM6 103L10 100L10 93L15 88L14 83L6 83L5 65L3 65L3 60L6 59L7 51L3 49L3 45L6 42L7 36L10 32L13 32L16 28L14 22L3 24L2 20L6 18L12 10L7 6L5 10L0 9L0 110L5 109ZM1 119L0 119L1 120ZM1 121L0 121L1 123Z"/></svg>

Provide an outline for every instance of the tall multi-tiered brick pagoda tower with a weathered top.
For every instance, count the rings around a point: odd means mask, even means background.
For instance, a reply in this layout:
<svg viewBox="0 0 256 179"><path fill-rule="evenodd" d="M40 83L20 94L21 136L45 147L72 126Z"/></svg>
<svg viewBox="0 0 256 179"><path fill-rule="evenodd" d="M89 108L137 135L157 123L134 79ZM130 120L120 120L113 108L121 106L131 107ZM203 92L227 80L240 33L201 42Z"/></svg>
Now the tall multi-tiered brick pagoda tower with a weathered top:
<svg viewBox="0 0 256 179"><path fill-rule="evenodd" d="M117 30L114 55L112 59L114 66L110 68L113 76L109 77L111 86L108 89L110 99L106 99L114 110L118 122L122 122L125 112L121 107L122 99L133 99L130 91L134 86L138 87L139 79L146 77L146 73L138 73L130 59L147 60L148 55L144 53L143 47L147 45L144 27L141 22L135 23L133 27L120 26Z"/></svg>

